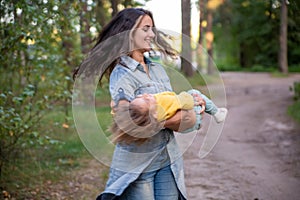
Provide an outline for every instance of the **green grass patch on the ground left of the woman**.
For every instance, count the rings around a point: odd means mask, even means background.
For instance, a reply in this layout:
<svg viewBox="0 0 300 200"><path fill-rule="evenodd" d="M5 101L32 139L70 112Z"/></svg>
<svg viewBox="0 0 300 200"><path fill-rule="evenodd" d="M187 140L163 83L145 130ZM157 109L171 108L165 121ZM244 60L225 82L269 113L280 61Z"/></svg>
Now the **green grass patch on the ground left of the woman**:
<svg viewBox="0 0 300 200"><path fill-rule="evenodd" d="M34 140L36 144L19 152L17 159L3 167L0 185L13 198L43 199L31 192L47 191L48 183L56 183L66 172L80 167L80 158L89 158L72 121L68 118L66 122L63 107L45 113L39 128L43 132Z"/></svg>

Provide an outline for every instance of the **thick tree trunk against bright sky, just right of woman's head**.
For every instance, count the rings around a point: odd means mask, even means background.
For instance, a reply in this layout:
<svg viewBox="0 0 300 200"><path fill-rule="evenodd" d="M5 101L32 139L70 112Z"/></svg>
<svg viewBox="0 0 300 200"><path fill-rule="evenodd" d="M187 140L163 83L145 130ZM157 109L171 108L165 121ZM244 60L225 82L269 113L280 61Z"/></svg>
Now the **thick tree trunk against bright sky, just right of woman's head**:
<svg viewBox="0 0 300 200"><path fill-rule="evenodd" d="M182 23L182 52L181 52L181 69L187 77L194 74L192 67L192 51L191 51L191 1L181 0L181 23Z"/></svg>

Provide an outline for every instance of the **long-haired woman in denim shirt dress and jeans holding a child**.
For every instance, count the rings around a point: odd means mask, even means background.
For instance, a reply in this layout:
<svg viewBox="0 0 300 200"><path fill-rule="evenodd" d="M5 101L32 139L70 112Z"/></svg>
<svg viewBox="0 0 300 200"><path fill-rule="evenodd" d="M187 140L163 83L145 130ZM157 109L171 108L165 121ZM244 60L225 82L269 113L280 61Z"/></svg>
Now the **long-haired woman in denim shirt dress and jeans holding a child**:
<svg viewBox="0 0 300 200"><path fill-rule="evenodd" d="M164 37L155 30L151 12L124 9L103 28L75 77L100 76L101 81L106 73L116 108L143 93L172 91L164 68L144 57L151 45L165 55L176 56ZM205 104L200 97L198 101L199 105ZM105 191L97 200L186 199L182 154L172 130L191 127L194 122L194 111L179 111L159 132L148 134L150 137L132 137L129 143L116 144Z"/></svg>

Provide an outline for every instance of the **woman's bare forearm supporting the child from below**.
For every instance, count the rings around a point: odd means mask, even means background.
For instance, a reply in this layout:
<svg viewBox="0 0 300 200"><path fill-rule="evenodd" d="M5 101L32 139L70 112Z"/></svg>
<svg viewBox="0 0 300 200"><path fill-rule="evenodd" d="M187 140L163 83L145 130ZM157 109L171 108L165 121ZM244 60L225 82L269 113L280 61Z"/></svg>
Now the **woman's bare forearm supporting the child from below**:
<svg viewBox="0 0 300 200"><path fill-rule="evenodd" d="M165 121L164 127L173 131L183 131L195 125L196 113L194 109L179 110L170 119Z"/></svg>

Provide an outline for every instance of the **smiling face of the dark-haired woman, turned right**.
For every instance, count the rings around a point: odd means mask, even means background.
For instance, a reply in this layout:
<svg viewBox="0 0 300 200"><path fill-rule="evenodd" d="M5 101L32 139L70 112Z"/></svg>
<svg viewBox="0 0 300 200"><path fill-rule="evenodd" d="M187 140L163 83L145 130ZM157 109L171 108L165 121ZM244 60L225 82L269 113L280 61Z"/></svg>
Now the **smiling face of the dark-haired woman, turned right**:
<svg viewBox="0 0 300 200"><path fill-rule="evenodd" d="M138 27L133 32L133 50L146 52L151 50L151 42L155 37L152 30L153 22L149 15L142 17Z"/></svg>

